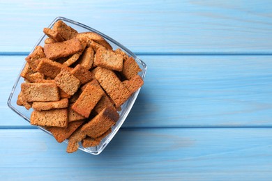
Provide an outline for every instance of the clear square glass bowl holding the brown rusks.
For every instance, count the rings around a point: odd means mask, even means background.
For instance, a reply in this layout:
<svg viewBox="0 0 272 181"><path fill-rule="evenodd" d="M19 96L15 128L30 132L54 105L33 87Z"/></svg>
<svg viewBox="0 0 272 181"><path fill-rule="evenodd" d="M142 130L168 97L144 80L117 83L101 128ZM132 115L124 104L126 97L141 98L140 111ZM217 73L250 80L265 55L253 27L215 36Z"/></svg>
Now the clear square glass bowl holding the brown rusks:
<svg viewBox="0 0 272 181"><path fill-rule="evenodd" d="M133 52L131 52L129 49L127 49L126 47L124 47L123 45L121 45L119 42L116 42L115 40L113 40L112 38L109 38L108 36L104 35L103 33L100 33L99 31L92 29L89 26L86 26L84 24L81 24L79 22L75 22L73 20L70 19L66 19L65 17L56 17L56 19L54 19L54 21L50 24L50 26L48 26L49 28L52 28L52 26L54 25L55 22L57 22L58 20L62 20L63 22L65 22L66 24L68 24L68 26L73 27L73 29L76 29L79 33L80 32L85 32L85 31L92 31L95 33L98 33L100 36L103 36L103 38L105 38L105 40L107 40L107 42L109 42L110 45L112 45L113 49L117 49L120 48L123 50L123 52L126 52L126 54L128 54L128 56L133 56L133 58L135 58L135 61L138 63L139 67L142 69L142 72L139 72L139 76L142 77L142 79L144 79L145 74L146 74L146 64L139 59L135 54L133 54ZM45 36L45 34L43 34L43 36L40 37L40 39L38 40L38 42L36 43L36 45L33 47L33 49L40 45L43 46L44 42L45 42L45 38L47 38L47 36ZM33 49L31 52L33 52ZM25 63L24 63L25 65ZM24 68L24 65L22 67L22 69ZM21 70L22 71L22 70ZM19 114L22 118L24 118L25 120L27 120L28 122L30 122L30 115L31 112L33 111L33 109L25 109L24 107L20 107L16 104L17 102L17 97L18 94L21 91L21 84L22 82L24 82L24 79L22 77L20 77L20 74L17 77L17 80L15 81L15 84L13 86L13 89L10 93L10 97L8 98L8 107L10 107L10 109L12 109L13 111L15 111L15 113ZM128 116L128 113L130 112L130 109L133 107L133 104L139 94L140 88L137 92L135 92L122 106L121 106L121 111L119 111L120 114L120 118L117 121L116 125L114 125L114 127L112 127L112 132L110 134L108 134L105 139L103 139L99 145L94 146L94 147L89 147L89 148L84 148L81 144L80 144L80 150L83 150L84 152L89 152L93 155L98 155L100 154L100 152L102 152L105 147L107 146L107 144L109 143L109 141L112 140L112 138L114 137L114 135L118 132L119 128L121 127L121 125L123 125L123 122L126 120L126 117ZM38 128L42 129L44 132L47 132L47 134L52 135L50 132L48 132L47 130L43 129L43 127L39 127ZM68 141L64 141L66 143L68 143Z"/></svg>

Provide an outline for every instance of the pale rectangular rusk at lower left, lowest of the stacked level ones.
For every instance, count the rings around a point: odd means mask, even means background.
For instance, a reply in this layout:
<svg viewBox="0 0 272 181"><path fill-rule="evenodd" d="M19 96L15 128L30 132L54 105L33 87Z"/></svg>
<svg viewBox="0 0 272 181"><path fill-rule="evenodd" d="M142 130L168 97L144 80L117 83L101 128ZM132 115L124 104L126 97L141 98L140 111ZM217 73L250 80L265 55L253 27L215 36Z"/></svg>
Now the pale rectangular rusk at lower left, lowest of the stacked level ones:
<svg viewBox="0 0 272 181"><path fill-rule="evenodd" d="M67 127L67 109L51 109L48 111L33 111L30 116L31 125L48 127Z"/></svg>

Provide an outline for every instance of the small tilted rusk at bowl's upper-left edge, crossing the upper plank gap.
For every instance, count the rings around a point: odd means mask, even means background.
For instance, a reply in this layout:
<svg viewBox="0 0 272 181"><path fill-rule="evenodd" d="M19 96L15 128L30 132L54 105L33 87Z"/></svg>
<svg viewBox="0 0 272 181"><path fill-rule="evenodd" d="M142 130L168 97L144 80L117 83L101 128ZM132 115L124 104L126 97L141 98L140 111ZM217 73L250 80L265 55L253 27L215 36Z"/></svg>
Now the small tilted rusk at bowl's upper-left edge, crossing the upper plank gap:
<svg viewBox="0 0 272 181"><path fill-rule="evenodd" d="M26 61L29 63L30 68L33 71L36 71L38 63L40 62L40 58L45 58L45 54L43 52L43 47L37 46L34 51L27 56Z"/></svg>

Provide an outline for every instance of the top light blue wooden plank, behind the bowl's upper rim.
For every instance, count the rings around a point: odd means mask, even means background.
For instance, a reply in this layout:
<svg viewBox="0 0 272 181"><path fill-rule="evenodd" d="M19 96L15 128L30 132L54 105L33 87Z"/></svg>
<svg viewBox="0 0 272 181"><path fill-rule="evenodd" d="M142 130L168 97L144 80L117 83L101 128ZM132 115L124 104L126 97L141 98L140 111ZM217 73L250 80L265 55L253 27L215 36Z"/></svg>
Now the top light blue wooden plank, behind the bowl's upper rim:
<svg viewBox="0 0 272 181"><path fill-rule="evenodd" d="M0 51L30 52L55 17L81 22L133 52L272 53L272 1L0 3Z"/></svg>

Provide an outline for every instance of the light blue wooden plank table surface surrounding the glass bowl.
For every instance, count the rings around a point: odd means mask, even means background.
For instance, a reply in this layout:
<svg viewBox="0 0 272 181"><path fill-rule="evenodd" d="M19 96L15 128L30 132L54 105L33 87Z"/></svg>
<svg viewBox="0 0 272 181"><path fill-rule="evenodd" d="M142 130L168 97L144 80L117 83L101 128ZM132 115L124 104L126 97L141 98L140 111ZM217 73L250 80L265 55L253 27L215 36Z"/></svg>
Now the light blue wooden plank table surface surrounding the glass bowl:
<svg viewBox="0 0 272 181"><path fill-rule="evenodd" d="M272 1L0 2L0 180L272 180ZM148 65L98 156L29 125L6 102L43 27L82 22Z"/></svg>

